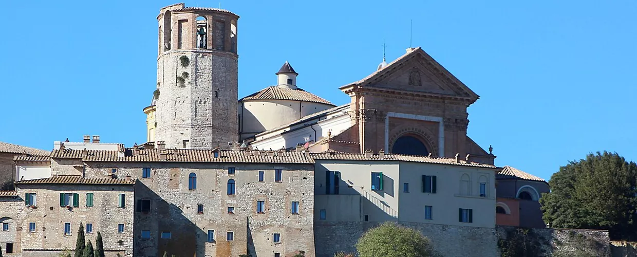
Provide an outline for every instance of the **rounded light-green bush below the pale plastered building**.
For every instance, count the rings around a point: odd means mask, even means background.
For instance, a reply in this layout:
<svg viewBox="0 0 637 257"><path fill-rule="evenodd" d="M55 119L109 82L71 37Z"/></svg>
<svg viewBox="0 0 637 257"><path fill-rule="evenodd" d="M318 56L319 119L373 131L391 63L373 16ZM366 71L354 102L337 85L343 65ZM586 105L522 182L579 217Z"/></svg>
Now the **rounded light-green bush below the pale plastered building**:
<svg viewBox="0 0 637 257"><path fill-rule="evenodd" d="M383 223L365 232L356 244L361 257L429 257L433 246L420 231Z"/></svg>

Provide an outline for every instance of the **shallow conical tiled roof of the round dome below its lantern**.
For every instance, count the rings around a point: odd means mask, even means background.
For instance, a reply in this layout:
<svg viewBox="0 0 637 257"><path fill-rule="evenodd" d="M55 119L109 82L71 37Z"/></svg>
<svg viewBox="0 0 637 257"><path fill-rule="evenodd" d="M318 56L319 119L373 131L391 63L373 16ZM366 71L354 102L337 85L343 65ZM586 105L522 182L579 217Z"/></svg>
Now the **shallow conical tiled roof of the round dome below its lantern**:
<svg viewBox="0 0 637 257"><path fill-rule="evenodd" d="M293 100L293 101L306 101L313 103L323 103L326 105L333 105L326 99L320 98L319 96L312 94L308 91L304 91L303 89L289 89L286 87L278 87L276 85L266 87L259 92L255 92L254 94L250 94L245 98L241 98L239 101L246 100L258 100L258 99L278 99L278 100Z"/></svg>

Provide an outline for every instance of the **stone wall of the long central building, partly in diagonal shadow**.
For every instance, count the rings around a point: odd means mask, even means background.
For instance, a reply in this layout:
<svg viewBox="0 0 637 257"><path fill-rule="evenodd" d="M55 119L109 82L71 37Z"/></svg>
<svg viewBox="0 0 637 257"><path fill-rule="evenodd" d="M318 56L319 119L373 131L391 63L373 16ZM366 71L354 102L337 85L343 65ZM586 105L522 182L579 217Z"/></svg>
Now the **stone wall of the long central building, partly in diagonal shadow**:
<svg viewBox="0 0 637 257"><path fill-rule="evenodd" d="M228 168L234 167L234 175ZM134 251L136 256L290 256L306 251L315 256L313 233L313 165L259 163L87 163L87 177L104 177L111 168L138 179L137 200L150 200L150 212L135 212ZM151 177L142 178L142 169L151 168ZM282 170L282 182L275 182L275 169ZM264 182L259 182L264 171ZM189 190L189 175L197 178ZM227 195L228 181L236 185ZM257 214L257 201L265 201L264 214ZM299 202L299 214L291 213L291 203ZM203 214L197 213L203 205ZM234 213L228 213L234 207ZM150 239L141 239L141 231ZM214 231L207 242L208 230ZM162 239L170 231L171 239ZM234 240L226 240L227 232ZM280 233L281 242L273 242Z"/></svg>

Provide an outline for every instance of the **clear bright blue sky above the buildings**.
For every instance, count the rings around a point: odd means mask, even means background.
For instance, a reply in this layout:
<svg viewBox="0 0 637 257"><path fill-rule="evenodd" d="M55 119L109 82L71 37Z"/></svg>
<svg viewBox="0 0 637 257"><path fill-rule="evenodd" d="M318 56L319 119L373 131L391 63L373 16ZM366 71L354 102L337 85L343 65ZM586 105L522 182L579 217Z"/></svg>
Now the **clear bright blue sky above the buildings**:
<svg viewBox="0 0 637 257"><path fill-rule="evenodd" d="M12 1L0 15L0 141L50 150L100 135L143 143L159 8L176 2ZM468 135L496 165L545 179L589 152L637 161L637 1L187 1L238 22L239 97L276 84L338 90L410 46L480 95Z"/></svg>

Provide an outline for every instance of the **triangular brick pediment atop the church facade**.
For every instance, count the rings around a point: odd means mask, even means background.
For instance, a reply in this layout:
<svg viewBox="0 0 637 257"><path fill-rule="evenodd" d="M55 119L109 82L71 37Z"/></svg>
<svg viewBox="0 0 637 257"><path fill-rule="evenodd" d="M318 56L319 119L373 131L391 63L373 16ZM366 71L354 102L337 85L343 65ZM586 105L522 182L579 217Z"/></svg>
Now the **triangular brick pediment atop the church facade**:
<svg viewBox="0 0 637 257"><path fill-rule="evenodd" d="M420 47L404 54L385 68L350 85L356 85L360 88L369 87L453 96L468 99L471 103L479 98L475 92L455 78ZM341 89L345 89L345 87Z"/></svg>

